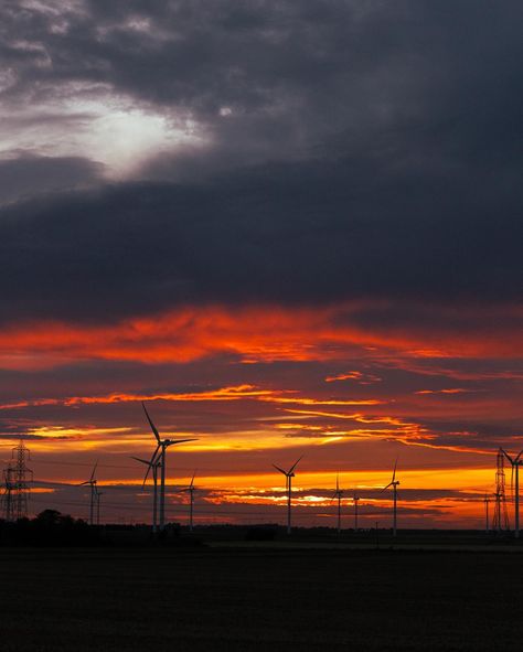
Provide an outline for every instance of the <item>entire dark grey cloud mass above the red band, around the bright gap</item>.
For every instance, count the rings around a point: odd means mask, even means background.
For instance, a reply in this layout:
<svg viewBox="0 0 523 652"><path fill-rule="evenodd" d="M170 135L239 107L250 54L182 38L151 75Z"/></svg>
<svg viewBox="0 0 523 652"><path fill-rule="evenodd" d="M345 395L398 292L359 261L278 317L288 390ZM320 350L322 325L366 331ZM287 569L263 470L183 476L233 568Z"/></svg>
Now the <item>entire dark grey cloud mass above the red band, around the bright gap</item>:
<svg viewBox="0 0 523 652"><path fill-rule="evenodd" d="M211 145L142 168L178 184L4 210L3 321L521 299L520 3L24 7L2 9L6 106L90 84L192 117ZM361 316L387 319L404 306Z"/></svg>

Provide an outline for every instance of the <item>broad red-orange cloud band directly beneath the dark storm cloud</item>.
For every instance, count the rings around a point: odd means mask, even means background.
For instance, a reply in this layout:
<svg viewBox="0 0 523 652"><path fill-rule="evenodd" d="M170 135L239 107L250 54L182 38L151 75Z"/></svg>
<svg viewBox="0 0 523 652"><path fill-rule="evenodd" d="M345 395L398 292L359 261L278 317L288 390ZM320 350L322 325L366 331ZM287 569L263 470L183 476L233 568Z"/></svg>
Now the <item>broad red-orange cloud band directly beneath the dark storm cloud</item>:
<svg viewBox="0 0 523 652"><path fill-rule="evenodd" d="M407 319L402 327L385 328L380 320L374 327L359 325L359 313L370 307L365 302L314 309L206 306L103 325L17 323L0 330L0 365L34 368L82 359L188 362L216 354L235 355L246 363L334 360L348 348L356 348L361 355L377 349L413 357L513 356L521 349L521 329L505 328L503 320L499 320L499 332L488 335L442 325L418 328ZM513 310L516 317L521 312Z"/></svg>

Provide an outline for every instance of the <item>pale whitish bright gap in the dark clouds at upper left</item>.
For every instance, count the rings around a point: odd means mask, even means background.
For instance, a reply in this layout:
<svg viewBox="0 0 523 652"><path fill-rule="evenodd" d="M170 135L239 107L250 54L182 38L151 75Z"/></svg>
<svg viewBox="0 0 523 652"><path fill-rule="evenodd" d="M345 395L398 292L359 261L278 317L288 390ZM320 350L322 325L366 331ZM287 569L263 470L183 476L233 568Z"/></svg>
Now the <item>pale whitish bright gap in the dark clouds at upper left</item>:
<svg viewBox="0 0 523 652"><path fill-rule="evenodd" d="M209 142L191 116L136 105L107 88L75 84L52 93L54 98L28 101L14 116L0 111L0 158L83 157L103 163L109 179L122 180L151 157Z"/></svg>

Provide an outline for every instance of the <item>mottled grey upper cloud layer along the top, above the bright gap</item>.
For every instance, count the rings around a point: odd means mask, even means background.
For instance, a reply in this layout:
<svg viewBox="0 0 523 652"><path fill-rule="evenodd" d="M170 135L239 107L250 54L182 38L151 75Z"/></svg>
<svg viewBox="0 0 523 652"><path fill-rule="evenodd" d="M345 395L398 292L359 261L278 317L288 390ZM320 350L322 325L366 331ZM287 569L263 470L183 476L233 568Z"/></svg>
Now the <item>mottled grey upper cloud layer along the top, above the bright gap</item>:
<svg viewBox="0 0 523 652"><path fill-rule="evenodd" d="M8 97L102 83L189 111L247 157L349 143L447 170L519 157L517 2L24 4L3 9Z"/></svg>

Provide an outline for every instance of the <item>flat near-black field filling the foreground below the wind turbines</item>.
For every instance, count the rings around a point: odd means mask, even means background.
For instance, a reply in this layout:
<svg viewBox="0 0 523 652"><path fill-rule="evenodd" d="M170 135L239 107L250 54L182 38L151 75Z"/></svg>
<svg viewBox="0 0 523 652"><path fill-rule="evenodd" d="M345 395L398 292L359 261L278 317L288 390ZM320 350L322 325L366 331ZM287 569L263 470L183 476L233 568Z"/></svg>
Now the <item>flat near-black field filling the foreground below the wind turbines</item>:
<svg viewBox="0 0 523 652"><path fill-rule="evenodd" d="M523 555L0 549L0 650L522 649Z"/></svg>

